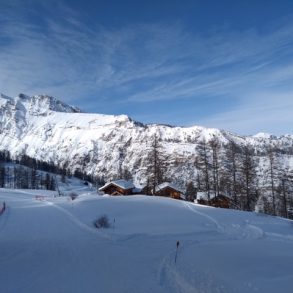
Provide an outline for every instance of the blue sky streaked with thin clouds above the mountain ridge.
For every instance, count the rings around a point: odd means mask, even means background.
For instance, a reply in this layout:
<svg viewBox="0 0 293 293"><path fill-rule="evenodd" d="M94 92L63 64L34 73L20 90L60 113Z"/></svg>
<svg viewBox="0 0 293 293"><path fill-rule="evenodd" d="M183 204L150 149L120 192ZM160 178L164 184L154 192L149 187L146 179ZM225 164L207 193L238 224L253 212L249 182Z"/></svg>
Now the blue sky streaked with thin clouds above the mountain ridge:
<svg viewBox="0 0 293 293"><path fill-rule="evenodd" d="M145 123L293 133L293 1L0 0L0 10L2 93Z"/></svg>

